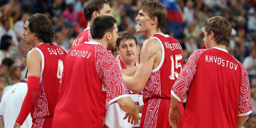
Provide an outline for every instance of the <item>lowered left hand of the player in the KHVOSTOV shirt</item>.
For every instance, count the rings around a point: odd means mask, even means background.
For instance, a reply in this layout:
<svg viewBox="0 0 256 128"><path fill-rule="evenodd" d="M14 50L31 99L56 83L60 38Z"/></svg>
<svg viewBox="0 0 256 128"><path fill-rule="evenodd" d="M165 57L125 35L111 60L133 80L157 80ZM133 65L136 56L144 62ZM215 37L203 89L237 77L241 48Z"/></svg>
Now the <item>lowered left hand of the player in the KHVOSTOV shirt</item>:
<svg viewBox="0 0 256 128"><path fill-rule="evenodd" d="M170 108L169 123L172 126L172 128L178 128L178 126L179 126L178 118L180 118L180 120L182 120L180 109L178 107L175 109Z"/></svg>

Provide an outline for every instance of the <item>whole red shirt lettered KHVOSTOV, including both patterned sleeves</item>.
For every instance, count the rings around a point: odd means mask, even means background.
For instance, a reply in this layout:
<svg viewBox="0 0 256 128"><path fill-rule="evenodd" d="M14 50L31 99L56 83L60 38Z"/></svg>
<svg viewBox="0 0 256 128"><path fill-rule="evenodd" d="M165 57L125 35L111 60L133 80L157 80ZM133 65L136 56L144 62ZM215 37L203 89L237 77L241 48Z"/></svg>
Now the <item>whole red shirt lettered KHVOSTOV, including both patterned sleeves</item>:
<svg viewBox="0 0 256 128"><path fill-rule="evenodd" d="M252 112L247 71L227 50L196 50L172 95L182 101L187 90L183 128L236 128L238 116Z"/></svg>

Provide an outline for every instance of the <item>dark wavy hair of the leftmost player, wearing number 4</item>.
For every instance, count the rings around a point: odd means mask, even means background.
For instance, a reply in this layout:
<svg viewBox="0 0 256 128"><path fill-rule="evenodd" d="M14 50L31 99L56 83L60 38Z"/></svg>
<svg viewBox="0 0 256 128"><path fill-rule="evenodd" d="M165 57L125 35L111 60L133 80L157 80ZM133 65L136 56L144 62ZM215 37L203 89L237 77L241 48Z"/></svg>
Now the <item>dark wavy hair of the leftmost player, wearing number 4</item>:
<svg viewBox="0 0 256 128"><path fill-rule="evenodd" d="M28 30L35 33L38 40L43 40L46 44L54 44L54 29L52 21L41 13L36 13L28 17Z"/></svg>

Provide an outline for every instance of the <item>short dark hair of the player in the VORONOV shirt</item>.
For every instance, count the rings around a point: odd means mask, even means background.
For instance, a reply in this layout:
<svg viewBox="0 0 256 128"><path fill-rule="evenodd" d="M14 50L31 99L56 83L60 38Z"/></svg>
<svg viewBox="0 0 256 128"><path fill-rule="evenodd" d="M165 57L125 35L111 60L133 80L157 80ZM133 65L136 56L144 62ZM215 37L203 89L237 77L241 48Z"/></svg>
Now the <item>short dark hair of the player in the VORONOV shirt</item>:
<svg viewBox="0 0 256 128"><path fill-rule="evenodd" d="M113 32L117 21L112 16L97 16L90 25L90 33L93 39L102 39L106 32Z"/></svg>

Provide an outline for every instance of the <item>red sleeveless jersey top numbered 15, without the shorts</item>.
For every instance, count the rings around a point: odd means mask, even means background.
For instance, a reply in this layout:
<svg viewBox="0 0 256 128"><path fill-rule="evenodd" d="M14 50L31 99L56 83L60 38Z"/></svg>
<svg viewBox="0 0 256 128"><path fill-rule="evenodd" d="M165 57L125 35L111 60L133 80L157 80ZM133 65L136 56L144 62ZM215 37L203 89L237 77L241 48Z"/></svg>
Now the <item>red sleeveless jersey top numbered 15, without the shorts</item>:
<svg viewBox="0 0 256 128"><path fill-rule="evenodd" d="M170 90L183 67L182 48L177 40L164 34L154 34L162 47L162 58L152 70L143 90L144 98L158 96L170 98Z"/></svg>

